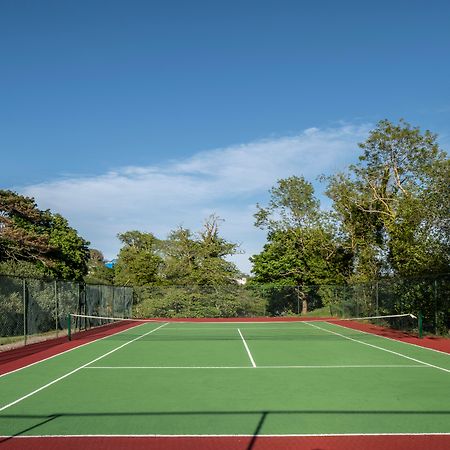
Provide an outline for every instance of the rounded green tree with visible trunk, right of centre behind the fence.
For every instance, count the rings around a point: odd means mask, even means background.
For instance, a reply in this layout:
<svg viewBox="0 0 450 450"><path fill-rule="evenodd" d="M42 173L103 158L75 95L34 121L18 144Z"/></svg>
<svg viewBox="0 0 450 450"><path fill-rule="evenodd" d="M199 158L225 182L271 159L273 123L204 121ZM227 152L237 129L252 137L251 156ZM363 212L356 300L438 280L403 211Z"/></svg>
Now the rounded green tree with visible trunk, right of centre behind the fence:
<svg viewBox="0 0 450 450"><path fill-rule="evenodd" d="M255 214L255 225L268 230L268 242L250 258L254 281L296 286L305 312L304 287L344 282L351 258L331 217L320 211L311 183L290 177L270 193L268 207L257 205Z"/></svg>

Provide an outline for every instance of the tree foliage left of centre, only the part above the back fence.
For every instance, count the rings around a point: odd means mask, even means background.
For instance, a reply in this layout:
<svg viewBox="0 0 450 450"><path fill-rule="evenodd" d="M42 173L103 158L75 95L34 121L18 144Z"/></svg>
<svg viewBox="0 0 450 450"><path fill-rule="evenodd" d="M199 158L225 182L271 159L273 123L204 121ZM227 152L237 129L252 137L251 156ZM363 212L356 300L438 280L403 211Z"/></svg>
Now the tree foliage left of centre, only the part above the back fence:
<svg viewBox="0 0 450 450"><path fill-rule="evenodd" d="M219 219L209 217L198 234L178 228L167 240L151 233L128 231L119 235L124 246L115 266L115 282L146 285L235 284L240 275L227 257L237 245L219 234Z"/></svg>

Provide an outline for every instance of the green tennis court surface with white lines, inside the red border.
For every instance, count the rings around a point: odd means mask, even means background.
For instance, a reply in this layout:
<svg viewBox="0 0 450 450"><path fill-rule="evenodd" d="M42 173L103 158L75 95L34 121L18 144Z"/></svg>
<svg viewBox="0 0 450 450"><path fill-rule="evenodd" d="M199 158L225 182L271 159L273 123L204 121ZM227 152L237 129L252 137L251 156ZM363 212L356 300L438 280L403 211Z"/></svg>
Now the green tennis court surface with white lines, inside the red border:
<svg viewBox="0 0 450 450"><path fill-rule="evenodd" d="M326 322L146 322L0 378L0 435L450 432L450 355Z"/></svg>

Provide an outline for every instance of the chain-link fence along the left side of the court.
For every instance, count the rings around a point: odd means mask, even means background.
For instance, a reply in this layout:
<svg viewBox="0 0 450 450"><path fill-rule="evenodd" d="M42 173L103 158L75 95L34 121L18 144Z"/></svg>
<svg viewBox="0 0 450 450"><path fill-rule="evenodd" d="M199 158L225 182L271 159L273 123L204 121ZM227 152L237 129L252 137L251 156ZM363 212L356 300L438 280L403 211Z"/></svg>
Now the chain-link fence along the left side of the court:
<svg viewBox="0 0 450 450"><path fill-rule="evenodd" d="M66 335L71 313L130 317L132 303L130 287L0 275L0 349Z"/></svg>

